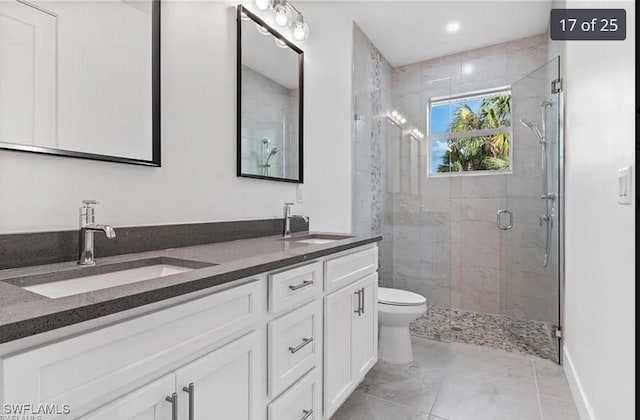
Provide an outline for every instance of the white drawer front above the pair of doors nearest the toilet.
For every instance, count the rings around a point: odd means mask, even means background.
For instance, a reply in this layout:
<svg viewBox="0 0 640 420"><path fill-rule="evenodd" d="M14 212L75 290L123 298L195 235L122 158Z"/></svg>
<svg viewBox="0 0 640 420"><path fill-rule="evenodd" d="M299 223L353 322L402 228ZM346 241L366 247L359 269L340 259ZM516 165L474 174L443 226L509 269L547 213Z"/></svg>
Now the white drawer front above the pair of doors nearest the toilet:
<svg viewBox="0 0 640 420"><path fill-rule="evenodd" d="M368 248L324 262L324 289L340 289L378 270L378 248Z"/></svg>

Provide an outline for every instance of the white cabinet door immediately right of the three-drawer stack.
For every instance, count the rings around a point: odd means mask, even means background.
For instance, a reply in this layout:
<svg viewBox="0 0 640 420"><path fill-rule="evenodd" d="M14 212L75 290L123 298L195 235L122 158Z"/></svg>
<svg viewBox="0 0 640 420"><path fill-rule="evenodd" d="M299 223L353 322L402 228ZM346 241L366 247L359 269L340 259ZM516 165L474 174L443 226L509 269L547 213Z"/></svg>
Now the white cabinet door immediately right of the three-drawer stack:
<svg viewBox="0 0 640 420"><path fill-rule="evenodd" d="M358 305L356 285L324 298L324 414L331 417L354 386L351 339Z"/></svg>

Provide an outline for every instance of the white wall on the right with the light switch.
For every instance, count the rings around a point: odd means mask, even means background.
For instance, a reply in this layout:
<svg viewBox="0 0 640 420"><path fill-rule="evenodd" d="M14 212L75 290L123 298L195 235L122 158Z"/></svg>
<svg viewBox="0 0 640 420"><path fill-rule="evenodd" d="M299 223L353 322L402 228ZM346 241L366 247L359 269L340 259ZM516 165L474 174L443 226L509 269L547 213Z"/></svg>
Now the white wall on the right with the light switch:
<svg viewBox="0 0 640 420"><path fill-rule="evenodd" d="M565 370L583 419L634 419L635 208L617 203L617 172L635 161L635 6L566 7L625 7L628 26L565 47Z"/></svg>

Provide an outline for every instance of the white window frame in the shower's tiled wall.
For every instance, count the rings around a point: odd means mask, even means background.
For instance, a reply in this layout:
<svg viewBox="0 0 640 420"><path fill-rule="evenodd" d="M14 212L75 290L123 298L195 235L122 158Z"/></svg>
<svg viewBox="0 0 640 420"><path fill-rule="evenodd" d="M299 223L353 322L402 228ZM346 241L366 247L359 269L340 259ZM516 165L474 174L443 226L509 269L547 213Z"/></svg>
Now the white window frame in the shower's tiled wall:
<svg viewBox="0 0 640 420"><path fill-rule="evenodd" d="M464 131L458 133L431 134L431 109L434 104L441 105L447 102L458 102L460 99L473 98L475 96L493 96L499 93L508 93L512 99L511 85L499 86L491 89L464 92L455 95L434 96L429 98L427 104L427 129L425 139L427 141L427 177L442 178L452 176L482 176L482 175L509 175L513 173L513 101L511 102L511 124L505 128L491 128L485 130ZM472 133L472 135L469 135ZM455 139L461 137L481 137L486 135L508 134L509 135L509 169L500 171L495 169L460 171L460 172L434 172L432 167L433 142L436 140Z"/></svg>

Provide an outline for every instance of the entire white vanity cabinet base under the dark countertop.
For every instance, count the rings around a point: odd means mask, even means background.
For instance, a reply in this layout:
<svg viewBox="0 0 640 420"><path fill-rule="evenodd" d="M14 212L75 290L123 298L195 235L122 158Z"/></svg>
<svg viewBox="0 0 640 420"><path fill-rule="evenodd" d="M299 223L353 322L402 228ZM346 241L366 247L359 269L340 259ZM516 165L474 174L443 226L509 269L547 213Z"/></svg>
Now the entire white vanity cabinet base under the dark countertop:
<svg viewBox="0 0 640 420"><path fill-rule="evenodd" d="M377 361L377 255L369 244L0 346L0 404L71 409L43 420L329 419Z"/></svg>

